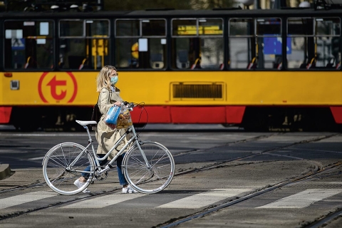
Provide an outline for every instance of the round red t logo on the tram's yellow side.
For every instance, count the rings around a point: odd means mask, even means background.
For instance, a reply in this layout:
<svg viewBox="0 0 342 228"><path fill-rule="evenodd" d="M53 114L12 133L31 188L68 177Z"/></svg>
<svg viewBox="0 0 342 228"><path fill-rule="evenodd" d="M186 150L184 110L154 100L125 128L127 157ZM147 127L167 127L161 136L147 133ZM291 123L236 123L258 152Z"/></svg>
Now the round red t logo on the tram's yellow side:
<svg viewBox="0 0 342 228"><path fill-rule="evenodd" d="M71 72L44 72L38 82L43 103L72 103L77 94L77 81Z"/></svg>

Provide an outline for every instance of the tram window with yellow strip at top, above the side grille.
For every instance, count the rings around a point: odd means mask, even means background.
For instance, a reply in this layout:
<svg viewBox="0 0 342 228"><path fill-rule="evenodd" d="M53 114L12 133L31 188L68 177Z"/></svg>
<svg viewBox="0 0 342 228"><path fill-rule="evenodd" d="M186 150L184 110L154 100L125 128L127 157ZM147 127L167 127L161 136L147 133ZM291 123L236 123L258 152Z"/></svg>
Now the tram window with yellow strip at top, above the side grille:
<svg viewBox="0 0 342 228"><path fill-rule="evenodd" d="M172 19L172 67L220 69L223 65L222 19Z"/></svg>

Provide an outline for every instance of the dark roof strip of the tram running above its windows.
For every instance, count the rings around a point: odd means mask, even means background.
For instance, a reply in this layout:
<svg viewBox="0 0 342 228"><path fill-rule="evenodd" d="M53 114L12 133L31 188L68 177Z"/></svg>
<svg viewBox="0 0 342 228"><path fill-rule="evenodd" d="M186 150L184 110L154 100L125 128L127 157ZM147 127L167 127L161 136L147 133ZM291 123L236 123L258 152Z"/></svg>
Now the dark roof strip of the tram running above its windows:
<svg viewBox="0 0 342 228"><path fill-rule="evenodd" d="M191 18L191 17L249 17L249 16L341 16L342 9L314 10L291 9L212 9L212 10L140 10L140 11L93 11L93 12L1 12L2 19L19 18Z"/></svg>

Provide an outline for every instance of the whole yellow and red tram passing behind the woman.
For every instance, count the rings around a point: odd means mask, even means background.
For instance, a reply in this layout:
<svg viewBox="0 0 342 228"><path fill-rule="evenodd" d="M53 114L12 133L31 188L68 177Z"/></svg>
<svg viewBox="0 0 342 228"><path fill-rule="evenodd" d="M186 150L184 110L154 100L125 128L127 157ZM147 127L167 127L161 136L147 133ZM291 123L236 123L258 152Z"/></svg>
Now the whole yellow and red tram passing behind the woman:
<svg viewBox="0 0 342 228"><path fill-rule="evenodd" d="M75 128L102 66L148 123L342 124L342 9L0 14L0 124ZM139 109L132 113L140 118ZM144 122L146 117L140 121Z"/></svg>

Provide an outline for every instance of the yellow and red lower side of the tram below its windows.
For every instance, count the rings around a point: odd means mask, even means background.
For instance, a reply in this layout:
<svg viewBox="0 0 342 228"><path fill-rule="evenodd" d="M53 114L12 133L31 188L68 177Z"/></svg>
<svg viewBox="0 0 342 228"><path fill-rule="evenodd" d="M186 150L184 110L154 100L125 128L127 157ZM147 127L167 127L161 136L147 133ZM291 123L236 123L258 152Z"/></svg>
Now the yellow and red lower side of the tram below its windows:
<svg viewBox="0 0 342 228"><path fill-rule="evenodd" d="M3 76L1 124L63 125L89 120L98 93L97 72L13 72ZM341 72L318 71L120 72L125 100L145 103L133 122L266 125L262 118L324 108L341 124ZM251 111L252 110L252 114ZM142 112L142 113L141 113ZM140 115L141 113L141 115ZM303 114L304 113L304 114ZM296 114L296 113L295 113ZM244 122L250 118L251 120ZM284 121L280 118L280 122ZM320 118L319 113L316 118ZM48 123L47 123L48 122ZM248 125L247 125L248 127Z"/></svg>

